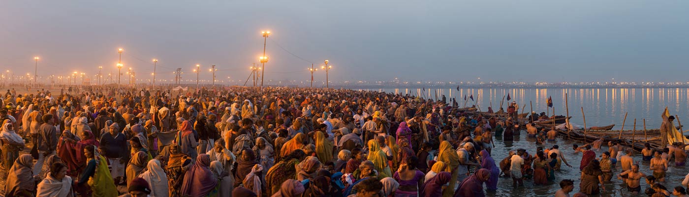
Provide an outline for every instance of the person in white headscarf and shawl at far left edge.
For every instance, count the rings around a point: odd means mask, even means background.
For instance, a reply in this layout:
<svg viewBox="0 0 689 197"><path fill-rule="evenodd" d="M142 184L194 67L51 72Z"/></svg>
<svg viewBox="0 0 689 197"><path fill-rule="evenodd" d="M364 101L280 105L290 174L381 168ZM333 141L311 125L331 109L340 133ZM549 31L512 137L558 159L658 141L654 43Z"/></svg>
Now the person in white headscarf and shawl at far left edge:
<svg viewBox="0 0 689 197"><path fill-rule="evenodd" d="M0 132L0 144L2 146L3 167L12 168L14 160L19 157L19 150L24 148L24 140L14 132L12 123L5 123ZM7 174L6 174L7 176Z"/></svg>

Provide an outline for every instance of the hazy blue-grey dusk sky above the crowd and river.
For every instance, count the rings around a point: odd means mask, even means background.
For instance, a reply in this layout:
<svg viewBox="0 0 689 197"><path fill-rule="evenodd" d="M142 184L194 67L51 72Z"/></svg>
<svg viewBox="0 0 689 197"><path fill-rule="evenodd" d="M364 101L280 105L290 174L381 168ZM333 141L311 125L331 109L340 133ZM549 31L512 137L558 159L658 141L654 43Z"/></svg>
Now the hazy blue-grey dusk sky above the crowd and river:
<svg viewBox="0 0 689 197"><path fill-rule="evenodd" d="M0 68L39 76L689 81L689 1L0 1ZM124 72L124 71L123 71ZM126 76L123 76L126 77ZM480 78L480 79L478 79ZM325 80L325 72L314 72ZM124 80L124 79L123 79ZM250 82L249 82L250 83Z"/></svg>

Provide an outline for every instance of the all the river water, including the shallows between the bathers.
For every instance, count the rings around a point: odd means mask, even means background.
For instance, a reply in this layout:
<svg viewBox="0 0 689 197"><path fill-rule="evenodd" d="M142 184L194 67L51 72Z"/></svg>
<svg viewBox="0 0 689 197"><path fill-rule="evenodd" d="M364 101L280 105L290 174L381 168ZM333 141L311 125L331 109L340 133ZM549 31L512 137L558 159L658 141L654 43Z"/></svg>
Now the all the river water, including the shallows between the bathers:
<svg viewBox="0 0 689 197"><path fill-rule="evenodd" d="M398 94L411 94L411 95L422 95L426 98L435 98L434 89L426 88L425 91L422 89L369 89L373 91L384 91L393 92ZM668 107L670 114L679 115L680 121L686 120L689 123L689 118L687 115L688 110L688 89L440 89L438 91L438 98L444 94L447 99L456 98L457 103L464 105L464 95L466 99L469 100L466 105L471 106L474 102L477 102L482 111L486 111L488 107L493 106L493 110L497 111L500 109L500 101L503 96L508 93L511 96L511 101L516 101L519 103L520 107L526 105L526 110L530 110L530 103L533 105L533 111L535 112L545 112L550 110L549 114L552 114L552 108L548 109L546 102L548 97L552 96L553 107L555 108L555 114L566 114L565 100L568 100L569 115L573 116L571 119L572 123L584 125L584 119L582 116L582 107L584 113L586 114L586 126L603 126L615 124L615 129L621 129L622 122L624 121L625 113L627 113L627 119L624 129L633 129L634 119L637 119L637 129L643 129L644 118L646 119L646 127L648 129L658 128L661 123L660 114L663 112L665 107ZM469 96L473 95L475 101L471 101ZM506 108L507 102L504 101L504 108ZM522 110L519 110L522 113ZM579 141L565 141L562 138L558 138L555 143L546 143L542 147L549 148L553 145L559 145L559 149L564 152L566 160L572 165L572 167L567 167L562 164L562 169L556 172L555 182L549 183L548 185L533 185L533 180L525 180L524 187L514 188L512 187L511 178L500 178L498 183L498 190L495 192L487 193L488 196L553 196L555 191L559 188L559 181L563 179L575 180L575 189L570 196L573 196L579 191L579 183L581 172L579 171L579 163L582 159L582 154L575 154L572 149L573 144L582 145ZM515 150L518 148L526 149L530 154L535 155L537 145L535 144L535 139L526 138L526 132L522 131L520 136L515 136L513 142L504 142L502 137L498 136L495 138L495 148L493 149L493 159L496 165L500 163L500 160L508 155L510 150ZM608 147L602 147L603 150L597 151L597 156L600 156L602 152L607 151ZM633 156L634 160L641 161L641 154L636 153ZM681 181L684 176L688 174L689 169L687 167L676 167L674 162L668 170L668 177L666 177L665 183L662 183L668 188L668 191L672 193L672 188L681 185ZM649 169L648 162L641 161L640 171L644 174L652 174ZM617 163L617 170L613 171L615 176L621 171L621 166ZM646 185L644 180L641 180L641 192L650 187ZM622 183L621 180L613 177L611 183L606 184L606 191L601 191L598 196L634 196L626 191L626 185ZM637 196L646 196L637 195Z"/></svg>

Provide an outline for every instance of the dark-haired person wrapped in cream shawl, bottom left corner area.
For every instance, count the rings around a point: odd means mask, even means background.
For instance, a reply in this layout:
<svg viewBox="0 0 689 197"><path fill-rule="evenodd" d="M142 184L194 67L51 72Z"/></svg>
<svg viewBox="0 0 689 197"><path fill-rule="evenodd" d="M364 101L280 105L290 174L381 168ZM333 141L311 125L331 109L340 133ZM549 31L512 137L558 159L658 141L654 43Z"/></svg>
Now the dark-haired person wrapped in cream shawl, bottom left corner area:
<svg viewBox="0 0 689 197"><path fill-rule="evenodd" d="M54 163L50 166L50 172L38 185L37 196L73 196L72 177L67 176L67 165Z"/></svg>

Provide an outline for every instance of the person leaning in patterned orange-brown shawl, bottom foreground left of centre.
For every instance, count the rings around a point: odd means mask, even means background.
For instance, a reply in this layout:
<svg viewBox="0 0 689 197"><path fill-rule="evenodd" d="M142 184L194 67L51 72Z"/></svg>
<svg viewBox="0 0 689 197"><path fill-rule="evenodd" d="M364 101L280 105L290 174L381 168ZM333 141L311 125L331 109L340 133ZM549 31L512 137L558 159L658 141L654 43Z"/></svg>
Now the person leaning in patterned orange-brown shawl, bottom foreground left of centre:
<svg viewBox="0 0 689 197"><path fill-rule="evenodd" d="M305 156L306 154L298 149L292 152L292 154L289 154L289 156L282 158L280 162L276 163L268 170L268 173L265 175L268 195L280 191L280 183L290 178L296 178L297 172L295 166L298 165L299 161L304 159Z"/></svg>

